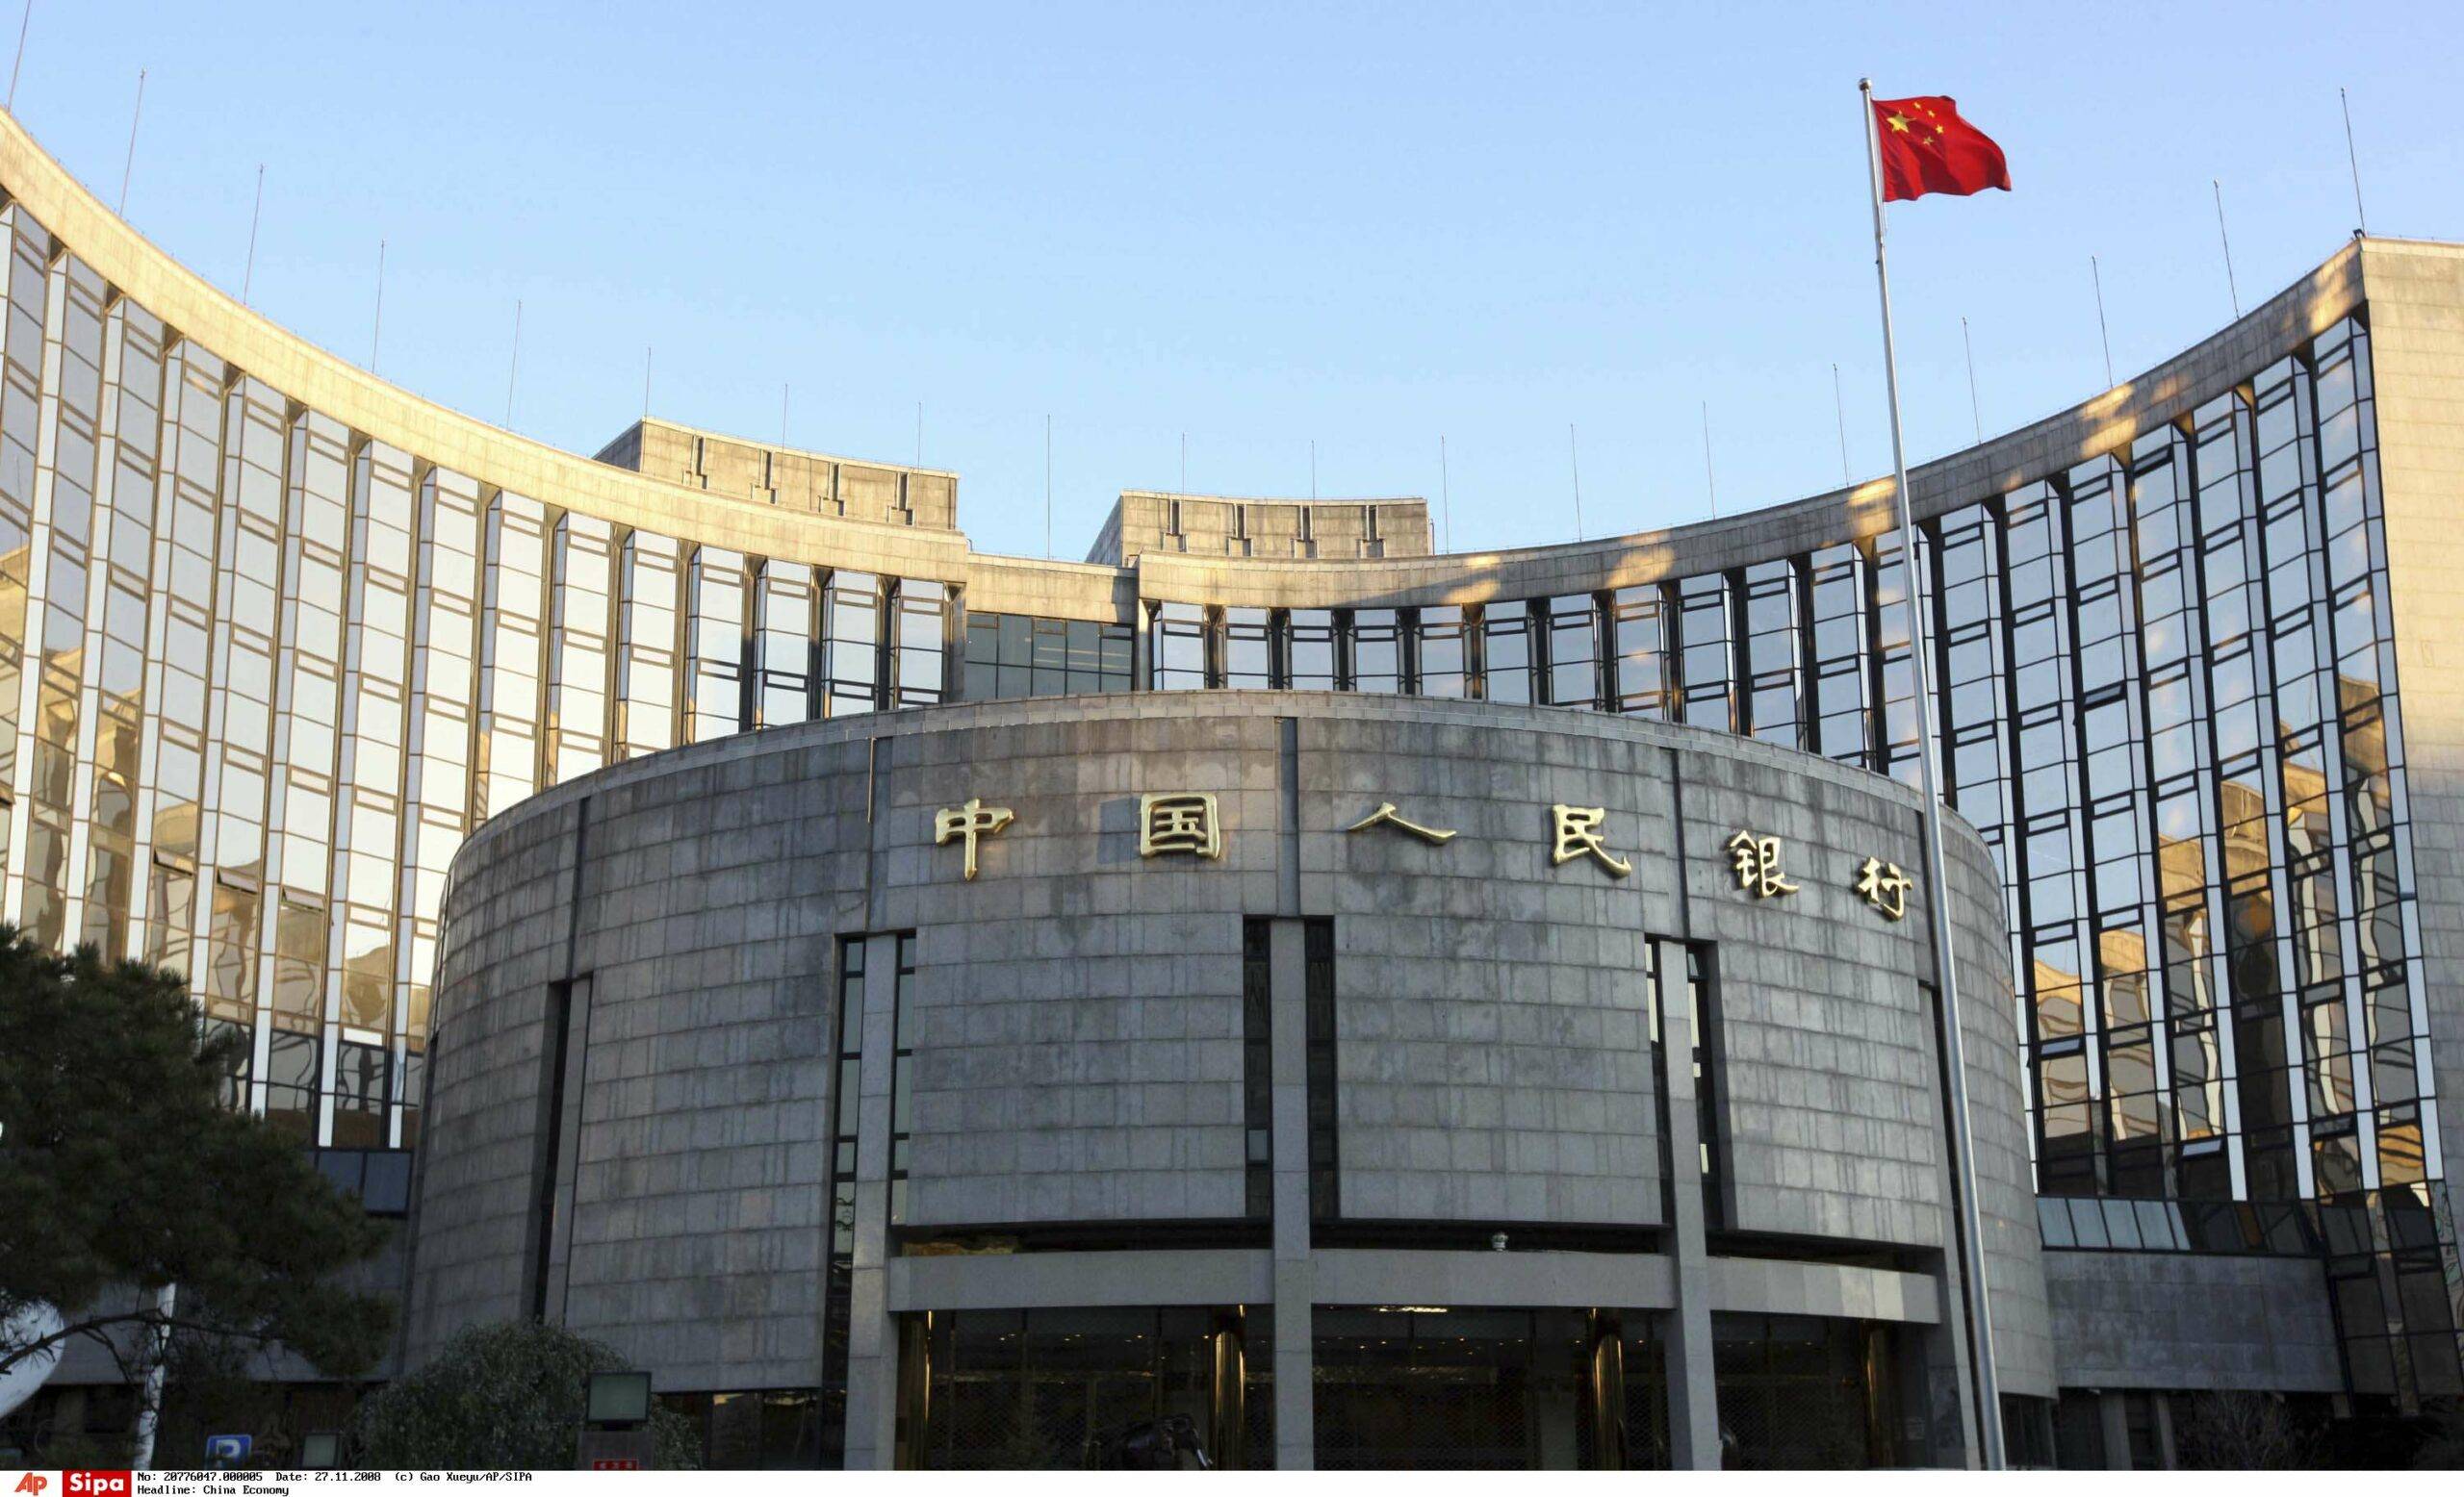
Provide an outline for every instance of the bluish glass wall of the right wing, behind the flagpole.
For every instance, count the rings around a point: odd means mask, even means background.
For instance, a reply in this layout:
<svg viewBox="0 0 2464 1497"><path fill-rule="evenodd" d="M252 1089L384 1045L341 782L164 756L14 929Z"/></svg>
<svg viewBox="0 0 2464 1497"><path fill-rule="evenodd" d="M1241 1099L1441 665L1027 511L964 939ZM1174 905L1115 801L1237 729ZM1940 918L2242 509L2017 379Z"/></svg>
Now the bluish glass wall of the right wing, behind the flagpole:
<svg viewBox="0 0 2464 1497"><path fill-rule="evenodd" d="M2304 1202L2356 1394L2464 1391L2368 327L1919 524L1944 790L1993 847L2048 1197ZM1897 534L1333 611L1335 689L1663 716L1917 781ZM1311 687L1316 613L1151 606L1153 687Z"/></svg>

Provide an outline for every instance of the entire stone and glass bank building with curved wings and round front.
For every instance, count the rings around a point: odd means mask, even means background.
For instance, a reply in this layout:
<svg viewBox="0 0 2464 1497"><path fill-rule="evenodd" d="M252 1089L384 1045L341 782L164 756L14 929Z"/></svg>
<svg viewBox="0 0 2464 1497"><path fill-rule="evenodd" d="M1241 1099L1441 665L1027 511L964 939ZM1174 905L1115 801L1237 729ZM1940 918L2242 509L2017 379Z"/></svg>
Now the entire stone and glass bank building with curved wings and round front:
<svg viewBox="0 0 2464 1497"><path fill-rule="evenodd" d="M1917 470L1915 559L1868 483L1476 556L1133 492L1064 564L949 473L419 401L5 118L0 195L0 918L251 1037L407 1216L399 1359L545 1315L781 1465L1961 1463L1988 1357L2016 1460L2146 1465L2464 1391L2464 249Z"/></svg>

